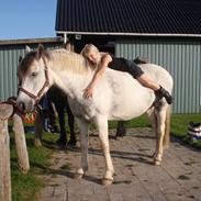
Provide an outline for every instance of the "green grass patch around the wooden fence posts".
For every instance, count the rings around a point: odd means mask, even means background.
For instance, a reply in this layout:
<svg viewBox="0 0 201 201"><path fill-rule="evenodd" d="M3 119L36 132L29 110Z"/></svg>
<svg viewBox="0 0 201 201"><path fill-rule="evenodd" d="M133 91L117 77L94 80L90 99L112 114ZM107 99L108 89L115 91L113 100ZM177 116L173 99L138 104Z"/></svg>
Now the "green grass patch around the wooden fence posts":
<svg viewBox="0 0 201 201"><path fill-rule="evenodd" d="M45 134L47 141L54 141L54 135ZM47 172L48 159L51 150L46 147L34 147L34 134L26 133L26 145L31 169L27 175L23 175L18 169L18 156L15 152L14 138L11 133L11 185L12 185L12 201L35 201L36 192L44 186L40 175Z"/></svg>

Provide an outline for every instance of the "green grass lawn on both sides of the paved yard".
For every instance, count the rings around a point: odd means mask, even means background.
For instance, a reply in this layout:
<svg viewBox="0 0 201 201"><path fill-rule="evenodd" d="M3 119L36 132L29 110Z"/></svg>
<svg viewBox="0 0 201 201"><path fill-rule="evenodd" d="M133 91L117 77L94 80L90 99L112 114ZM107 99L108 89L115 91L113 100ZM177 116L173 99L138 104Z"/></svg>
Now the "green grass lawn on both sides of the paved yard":
<svg viewBox="0 0 201 201"><path fill-rule="evenodd" d="M187 137L187 125L192 122L201 122L201 114L172 114L171 115L171 135L180 138L183 143L190 144L201 149L201 141L192 142ZM116 123L110 123L110 129L115 129ZM126 127L146 127L150 126L147 119L142 115L133 121L126 122ZM56 134L44 133L46 143L55 142ZM27 175L19 171L16 166L16 153L14 147L13 134L11 133L11 177L12 177L12 201L35 201L36 192L44 186L40 175L48 171L48 159L53 149L47 146L40 148L33 145L33 133L26 133L26 144L30 157L31 170ZM56 152L56 150L54 150Z"/></svg>

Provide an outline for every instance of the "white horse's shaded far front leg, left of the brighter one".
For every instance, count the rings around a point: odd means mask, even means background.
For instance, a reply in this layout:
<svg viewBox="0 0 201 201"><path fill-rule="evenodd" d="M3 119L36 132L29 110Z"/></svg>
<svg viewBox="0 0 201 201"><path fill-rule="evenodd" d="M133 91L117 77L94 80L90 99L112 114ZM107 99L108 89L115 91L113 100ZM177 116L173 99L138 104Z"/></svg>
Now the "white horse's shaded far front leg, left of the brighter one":
<svg viewBox="0 0 201 201"><path fill-rule="evenodd" d="M77 178L82 178L88 169L88 129L89 123L80 119L76 119L80 130L80 146L81 146L81 167L77 170Z"/></svg>

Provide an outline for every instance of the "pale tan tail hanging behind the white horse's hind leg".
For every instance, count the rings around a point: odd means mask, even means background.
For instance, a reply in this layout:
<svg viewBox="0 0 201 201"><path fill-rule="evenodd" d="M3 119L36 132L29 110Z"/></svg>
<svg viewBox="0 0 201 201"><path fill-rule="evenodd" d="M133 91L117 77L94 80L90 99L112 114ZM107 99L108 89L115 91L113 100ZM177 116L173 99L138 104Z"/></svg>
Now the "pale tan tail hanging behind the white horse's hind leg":
<svg viewBox="0 0 201 201"><path fill-rule="evenodd" d="M169 147L169 134L170 134L170 107L168 105L166 110L165 134L163 141L164 148Z"/></svg>

